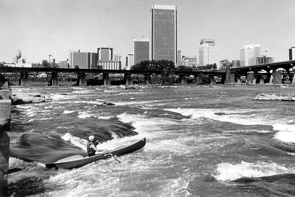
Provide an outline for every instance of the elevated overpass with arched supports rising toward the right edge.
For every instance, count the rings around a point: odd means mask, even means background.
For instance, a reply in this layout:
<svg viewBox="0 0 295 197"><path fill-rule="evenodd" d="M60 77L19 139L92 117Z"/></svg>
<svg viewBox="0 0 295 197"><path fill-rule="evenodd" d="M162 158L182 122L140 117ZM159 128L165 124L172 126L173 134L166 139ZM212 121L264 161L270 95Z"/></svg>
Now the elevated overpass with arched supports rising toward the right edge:
<svg viewBox="0 0 295 197"><path fill-rule="evenodd" d="M290 69L292 69L295 66L295 60L289 60L289 61L281 61L281 62L274 62L274 63L266 63L266 64L259 64L259 65L253 65L253 66L240 66L240 67L234 67L230 68L230 80L233 80L232 78L234 75L245 75L247 76L247 80L249 83L253 83L253 80L255 82L262 82L264 79L262 78L263 75L267 76L267 80L269 79L270 83L272 83L272 80L274 80L274 84L280 84L282 83L281 78L281 72L276 71L279 68L285 69L287 72L288 78L292 83L295 83L294 80L294 74L290 72ZM264 73L260 73L260 71L265 71ZM272 72L270 72L272 71ZM250 73L249 73L250 72ZM293 77L292 77L293 74ZM254 78L256 76L256 79ZM293 80L292 80L293 79Z"/></svg>

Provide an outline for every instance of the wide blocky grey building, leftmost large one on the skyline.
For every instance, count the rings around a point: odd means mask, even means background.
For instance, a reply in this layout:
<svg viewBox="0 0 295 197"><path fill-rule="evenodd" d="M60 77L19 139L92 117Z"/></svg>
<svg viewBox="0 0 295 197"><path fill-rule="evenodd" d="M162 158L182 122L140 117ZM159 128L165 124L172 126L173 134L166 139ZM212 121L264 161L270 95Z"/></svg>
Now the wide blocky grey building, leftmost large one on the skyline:
<svg viewBox="0 0 295 197"><path fill-rule="evenodd" d="M69 51L69 66L80 69L97 69L98 54L91 52Z"/></svg>

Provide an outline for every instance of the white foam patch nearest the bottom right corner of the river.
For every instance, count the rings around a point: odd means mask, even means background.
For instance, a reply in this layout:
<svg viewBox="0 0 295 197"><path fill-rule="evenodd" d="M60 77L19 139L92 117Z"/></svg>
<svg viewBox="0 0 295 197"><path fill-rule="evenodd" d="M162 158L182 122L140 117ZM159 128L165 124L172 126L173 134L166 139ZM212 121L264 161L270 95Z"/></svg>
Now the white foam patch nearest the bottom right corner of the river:
<svg viewBox="0 0 295 197"><path fill-rule="evenodd" d="M215 178L221 181L233 181L241 177L261 177L285 173L295 173L295 169L261 161L255 163L242 161L240 164L225 162L217 165Z"/></svg>

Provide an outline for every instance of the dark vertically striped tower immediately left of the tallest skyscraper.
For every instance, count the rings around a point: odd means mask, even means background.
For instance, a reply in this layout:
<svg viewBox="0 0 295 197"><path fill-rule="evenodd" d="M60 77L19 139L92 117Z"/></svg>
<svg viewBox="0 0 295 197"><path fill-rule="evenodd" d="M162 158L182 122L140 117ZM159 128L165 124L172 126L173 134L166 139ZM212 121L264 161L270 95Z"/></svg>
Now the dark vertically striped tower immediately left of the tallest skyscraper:
<svg viewBox="0 0 295 197"><path fill-rule="evenodd" d="M149 60L149 39L146 38L134 38L134 63L137 64L141 61Z"/></svg>

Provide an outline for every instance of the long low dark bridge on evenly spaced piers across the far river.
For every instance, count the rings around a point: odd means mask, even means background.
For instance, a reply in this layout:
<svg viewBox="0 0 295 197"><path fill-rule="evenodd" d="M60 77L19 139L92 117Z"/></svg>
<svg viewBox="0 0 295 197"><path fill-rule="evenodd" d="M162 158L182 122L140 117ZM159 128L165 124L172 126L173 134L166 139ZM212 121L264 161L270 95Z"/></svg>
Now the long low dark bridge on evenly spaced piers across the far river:
<svg viewBox="0 0 295 197"><path fill-rule="evenodd" d="M145 76L145 83L150 84L150 75L153 74L162 74L162 71L156 70L106 70L106 69L72 69L72 68L27 68L27 67L10 67L4 66L0 67L0 73L3 72L20 72L21 79L19 82L20 86L28 86L29 79L28 73L30 72L50 72L51 73L51 80L50 86L58 86L58 73L77 73L78 79L77 82L80 86L86 86L86 79L85 73L102 73L104 85L110 85L109 74L124 74L124 79L126 80L126 85L132 85L132 74L144 75ZM194 75L194 77L198 77L198 75L204 74L209 75L211 78L211 83L215 84L216 75L221 75L223 81L226 81L226 75L224 71L221 70L202 70L196 72L185 72L185 71L175 71L175 75L179 75L179 79L182 84L186 84L186 75Z"/></svg>

